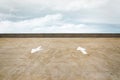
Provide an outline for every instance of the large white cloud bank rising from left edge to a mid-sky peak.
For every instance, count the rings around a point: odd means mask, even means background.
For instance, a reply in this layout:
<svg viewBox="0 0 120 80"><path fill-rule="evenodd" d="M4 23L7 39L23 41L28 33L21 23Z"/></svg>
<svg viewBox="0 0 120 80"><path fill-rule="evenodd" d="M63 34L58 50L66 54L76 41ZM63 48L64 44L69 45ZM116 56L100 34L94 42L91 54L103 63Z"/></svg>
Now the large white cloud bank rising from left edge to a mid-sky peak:
<svg viewBox="0 0 120 80"><path fill-rule="evenodd" d="M0 22L0 33L81 33L92 32L85 24L64 22L62 14L46 15L45 17L19 22ZM97 31L97 30L96 30Z"/></svg>

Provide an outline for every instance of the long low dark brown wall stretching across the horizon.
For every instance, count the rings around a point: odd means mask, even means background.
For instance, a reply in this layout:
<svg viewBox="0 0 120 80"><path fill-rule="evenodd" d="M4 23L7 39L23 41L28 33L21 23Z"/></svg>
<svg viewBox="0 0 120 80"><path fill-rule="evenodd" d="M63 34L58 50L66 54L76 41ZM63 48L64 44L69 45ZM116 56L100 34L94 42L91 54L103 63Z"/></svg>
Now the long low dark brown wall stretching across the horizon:
<svg viewBox="0 0 120 80"><path fill-rule="evenodd" d="M0 38L120 38L120 34L0 34Z"/></svg>

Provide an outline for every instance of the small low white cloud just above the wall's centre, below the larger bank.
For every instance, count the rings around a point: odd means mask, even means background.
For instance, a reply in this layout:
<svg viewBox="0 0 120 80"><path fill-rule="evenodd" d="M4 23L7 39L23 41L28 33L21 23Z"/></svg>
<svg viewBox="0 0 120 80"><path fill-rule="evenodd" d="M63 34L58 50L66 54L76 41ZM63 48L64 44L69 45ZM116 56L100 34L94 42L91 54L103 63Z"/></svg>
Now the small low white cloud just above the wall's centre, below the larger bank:
<svg viewBox="0 0 120 80"><path fill-rule="evenodd" d="M93 32L89 27L85 24L71 24L71 23L62 23L60 25L52 25L47 27L46 29L43 28L35 28L32 30L33 33L89 33ZM98 30L96 30L97 32Z"/></svg>

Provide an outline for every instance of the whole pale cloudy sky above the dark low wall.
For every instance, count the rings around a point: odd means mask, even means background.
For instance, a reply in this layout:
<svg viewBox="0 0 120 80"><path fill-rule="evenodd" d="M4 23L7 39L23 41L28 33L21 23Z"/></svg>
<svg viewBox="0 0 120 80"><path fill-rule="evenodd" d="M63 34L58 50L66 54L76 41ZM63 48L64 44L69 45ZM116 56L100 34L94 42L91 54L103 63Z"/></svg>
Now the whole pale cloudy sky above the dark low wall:
<svg viewBox="0 0 120 80"><path fill-rule="evenodd" d="M120 0L0 0L0 33L120 33Z"/></svg>

